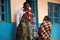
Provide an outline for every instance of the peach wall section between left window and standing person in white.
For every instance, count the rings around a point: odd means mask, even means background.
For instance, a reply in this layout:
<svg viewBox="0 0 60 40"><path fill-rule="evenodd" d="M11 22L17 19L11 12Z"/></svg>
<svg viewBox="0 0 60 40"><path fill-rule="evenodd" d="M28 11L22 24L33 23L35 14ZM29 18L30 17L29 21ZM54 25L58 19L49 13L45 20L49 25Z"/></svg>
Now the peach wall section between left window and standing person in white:
<svg viewBox="0 0 60 40"><path fill-rule="evenodd" d="M17 11L22 8L26 0L11 0L11 18L12 22L16 22Z"/></svg>

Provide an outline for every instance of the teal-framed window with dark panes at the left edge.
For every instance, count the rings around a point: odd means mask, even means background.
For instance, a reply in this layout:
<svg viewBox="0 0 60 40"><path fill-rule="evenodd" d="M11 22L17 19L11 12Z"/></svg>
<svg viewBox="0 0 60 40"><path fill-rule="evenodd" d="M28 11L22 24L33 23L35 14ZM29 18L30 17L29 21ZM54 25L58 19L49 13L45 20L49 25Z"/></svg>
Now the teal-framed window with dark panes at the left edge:
<svg viewBox="0 0 60 40"><path fill-rule="evenodd" d="M10 0L0 0L0 23L10 22L11 11L10 11Z"/></svg>

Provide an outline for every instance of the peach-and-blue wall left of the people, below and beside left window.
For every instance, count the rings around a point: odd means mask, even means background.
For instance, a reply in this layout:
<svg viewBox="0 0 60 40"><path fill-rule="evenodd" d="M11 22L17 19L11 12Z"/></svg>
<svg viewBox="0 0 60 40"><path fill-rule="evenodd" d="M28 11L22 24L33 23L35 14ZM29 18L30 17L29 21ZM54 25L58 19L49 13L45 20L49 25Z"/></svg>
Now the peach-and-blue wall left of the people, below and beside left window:
<svg viewBox="0 0 60 40"><path fill-rule="evenodd" d="M11 18L12 22L0 23L0 40L16 40L16 14L18 9L23 6L25 0L10 0L11 1Z"/></svg>

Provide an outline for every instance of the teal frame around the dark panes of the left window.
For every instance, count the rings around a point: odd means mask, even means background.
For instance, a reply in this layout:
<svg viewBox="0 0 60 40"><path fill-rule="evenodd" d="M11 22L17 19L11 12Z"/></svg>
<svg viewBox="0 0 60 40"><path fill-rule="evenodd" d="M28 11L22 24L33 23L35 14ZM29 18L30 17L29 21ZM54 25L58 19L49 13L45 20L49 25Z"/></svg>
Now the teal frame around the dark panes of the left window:
<svg viewBox="0 0 60 40"><path fill-rule="evenodd" d="M4 21L2 22L11 22L11 5L10 0L4 0Z"/></svg>

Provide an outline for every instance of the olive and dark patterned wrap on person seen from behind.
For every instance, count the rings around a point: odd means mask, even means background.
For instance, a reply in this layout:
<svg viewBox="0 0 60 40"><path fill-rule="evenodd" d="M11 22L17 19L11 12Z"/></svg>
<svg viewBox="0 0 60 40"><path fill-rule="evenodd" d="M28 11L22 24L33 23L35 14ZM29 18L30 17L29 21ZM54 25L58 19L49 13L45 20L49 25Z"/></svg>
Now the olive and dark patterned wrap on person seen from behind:
<svg viewBox="0 0 60 40"><path fill-rule="evenodd" d="M16 40L32 40L32 26L27 14L22 16L17 28Z"/></svg>

